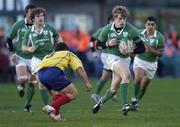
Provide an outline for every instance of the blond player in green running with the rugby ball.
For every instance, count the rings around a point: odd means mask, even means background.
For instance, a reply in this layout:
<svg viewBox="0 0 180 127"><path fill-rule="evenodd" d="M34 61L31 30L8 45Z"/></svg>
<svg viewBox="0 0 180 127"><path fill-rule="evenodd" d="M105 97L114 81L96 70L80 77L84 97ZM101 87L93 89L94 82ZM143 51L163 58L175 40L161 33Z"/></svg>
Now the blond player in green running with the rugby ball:
<svg viewBox="0 0 180 127"><path fill-rule="evenodd" d="M111 88L108 89L106 94L94 105L93 113L97 113L101 105L117 93L119 87L122 97L122 113L127 115L128 111L131 110L128 104L128 84L131 77L129 54L143 53L145 47L139 37L137 29L126 22L128 14L129 12L126 7L115 6L112 10L112 15L115 20L114 23L104 27L98 37L97 47L108 48L110 55L107 58L107 63L113 74ZM124 42L122 40L125 39L132 41L134 48L127 45L119 48L119 45Z"/></svg>

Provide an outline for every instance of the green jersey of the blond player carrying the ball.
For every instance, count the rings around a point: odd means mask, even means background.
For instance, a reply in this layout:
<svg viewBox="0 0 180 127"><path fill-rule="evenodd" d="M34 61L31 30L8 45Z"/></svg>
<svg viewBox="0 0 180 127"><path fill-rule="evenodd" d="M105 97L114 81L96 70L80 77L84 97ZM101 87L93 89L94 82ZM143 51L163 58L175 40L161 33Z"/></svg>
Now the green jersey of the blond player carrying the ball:
<svg viewBox="0 0 180 127"><path fill-rule="evenodd" d="M110 39L116 39L117 42L120 44L121 40L124 40L124 39L133 40L135 38L139 38L138 30L134 26L129 24L128 22L126 22L125 26L119 33L116 32L114 25L115 24L113 22L112 24L105 26L102 29L102 31L98 37L98 40L105 43L106 41L108 41ZM135 42L133 42L133 43L135 43ZM119 51L118 46L111 46L107 49L108 49L108 53L110 53L110 54L114 54L114 55L120 56L122 58L128 57L128 55L124 55Z"/></svg>

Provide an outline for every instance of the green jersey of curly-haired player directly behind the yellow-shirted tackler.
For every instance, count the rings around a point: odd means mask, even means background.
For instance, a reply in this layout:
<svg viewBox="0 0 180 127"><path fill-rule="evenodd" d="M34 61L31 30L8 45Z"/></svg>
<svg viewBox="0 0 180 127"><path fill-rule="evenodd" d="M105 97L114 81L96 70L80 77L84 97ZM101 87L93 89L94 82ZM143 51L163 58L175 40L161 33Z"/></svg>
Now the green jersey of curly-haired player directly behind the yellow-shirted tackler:
<svg viewBox="0 0 180 127"><path fill-rule="evenodd" d="M41 32L37 32L34 25L24 36L24 46L36 46L37 49L33 56L43 59L44 56L54 51L54 38L59 37L59 33L49 24L45 24Z"/></svg>

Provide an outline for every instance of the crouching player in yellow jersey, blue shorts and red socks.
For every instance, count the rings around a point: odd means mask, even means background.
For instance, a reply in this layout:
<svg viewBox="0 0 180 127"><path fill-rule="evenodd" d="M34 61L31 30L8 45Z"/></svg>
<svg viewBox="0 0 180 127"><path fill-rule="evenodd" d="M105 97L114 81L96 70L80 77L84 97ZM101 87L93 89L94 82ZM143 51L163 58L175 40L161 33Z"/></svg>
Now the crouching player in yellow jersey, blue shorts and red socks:
<svg viewBox="0 0 180 127"><path fill-rule="evenodd" d="M78 96L74 84L65 76L64 70L67 68L72 68L82 77L87 91L92 89L80 59L68 51L65 43L58 43L55 52L47 55L38 68L39 81L53 97L52 103L44 106L43 111L54 121L62 120L60 107Z"/></svg>

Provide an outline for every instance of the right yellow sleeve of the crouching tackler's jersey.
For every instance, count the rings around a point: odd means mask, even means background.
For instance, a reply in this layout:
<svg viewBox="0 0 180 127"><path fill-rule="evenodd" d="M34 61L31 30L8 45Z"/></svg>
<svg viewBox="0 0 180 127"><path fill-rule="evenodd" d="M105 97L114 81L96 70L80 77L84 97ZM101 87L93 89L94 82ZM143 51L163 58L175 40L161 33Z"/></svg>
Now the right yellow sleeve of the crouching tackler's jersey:
<svg viewBox="0 0 180 127"><path fill-rule="evenodd" d="M73 53L70 54L69 66L76 71L77 68L83 67L81 60Z"/></svg>

